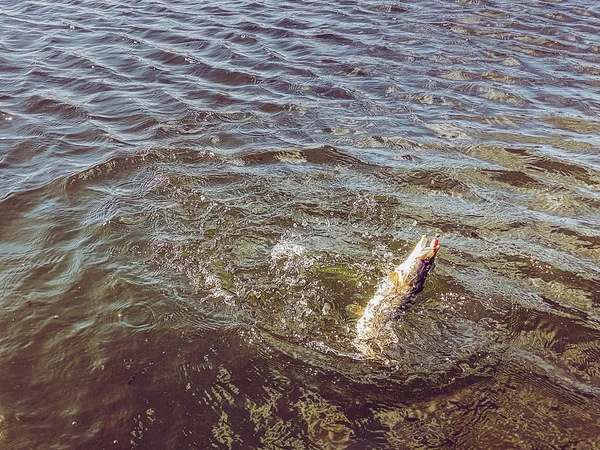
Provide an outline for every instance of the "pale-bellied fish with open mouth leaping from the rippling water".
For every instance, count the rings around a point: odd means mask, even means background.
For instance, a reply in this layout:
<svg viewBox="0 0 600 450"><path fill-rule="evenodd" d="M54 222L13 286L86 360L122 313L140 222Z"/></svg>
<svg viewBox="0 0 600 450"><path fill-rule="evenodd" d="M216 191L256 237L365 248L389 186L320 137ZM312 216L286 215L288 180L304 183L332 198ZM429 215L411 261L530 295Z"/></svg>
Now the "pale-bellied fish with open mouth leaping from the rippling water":
<svg viewBox="0 0 600 450"><path fill-rule="evenodd" d="M356 323L355 347L367 356L381 355L398 343L393 324L406 314L423 290L440 249L438 235L421 237L408 258L384 278Z"/></svg>

